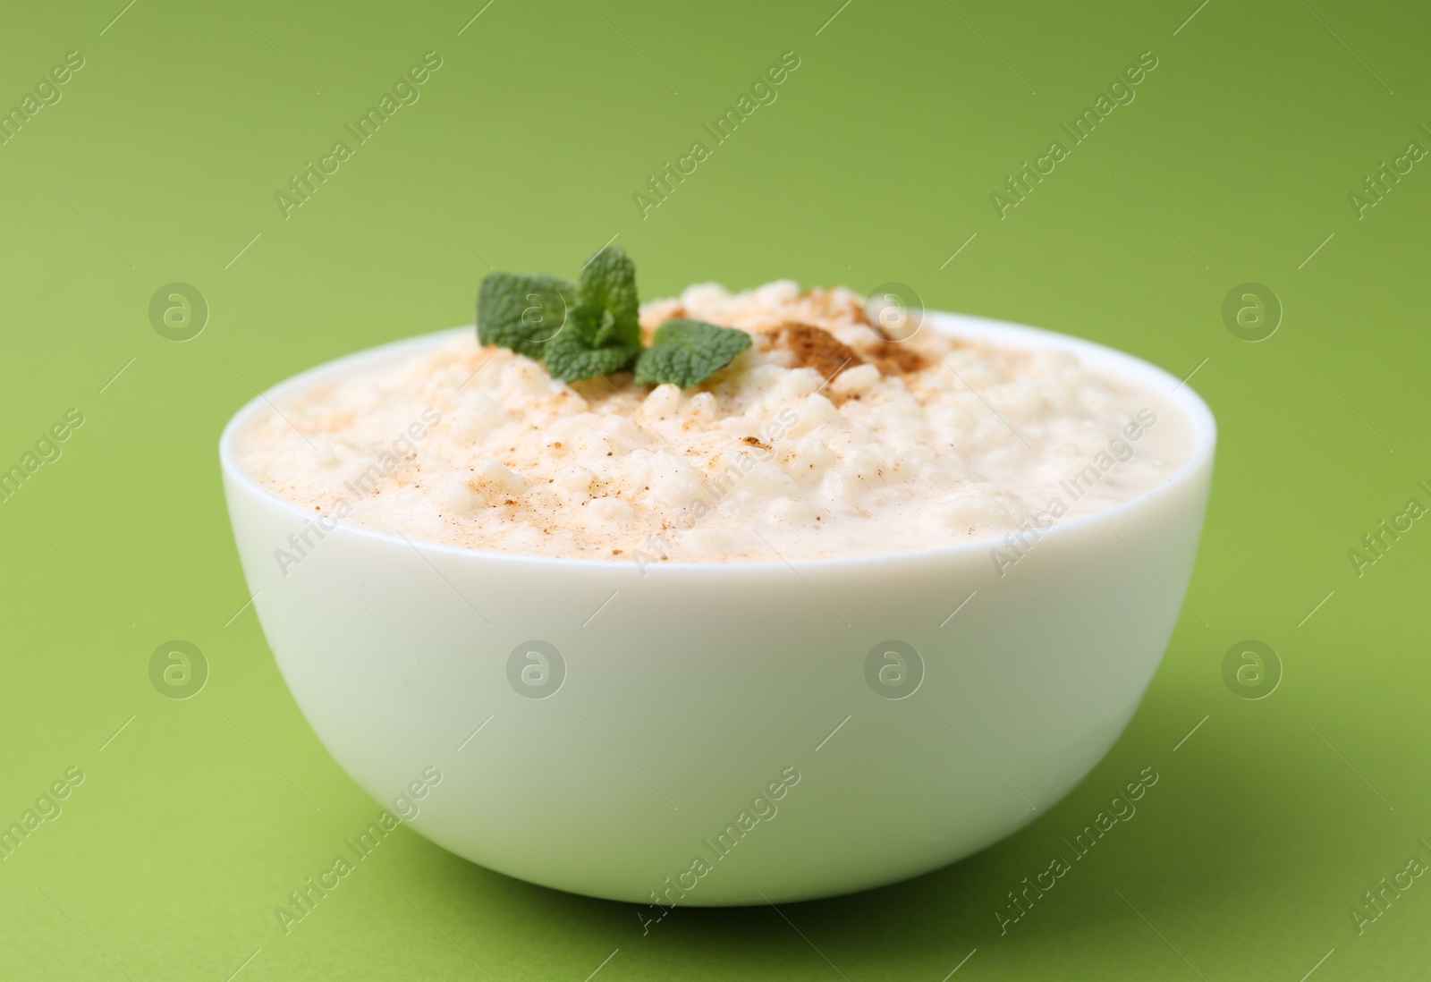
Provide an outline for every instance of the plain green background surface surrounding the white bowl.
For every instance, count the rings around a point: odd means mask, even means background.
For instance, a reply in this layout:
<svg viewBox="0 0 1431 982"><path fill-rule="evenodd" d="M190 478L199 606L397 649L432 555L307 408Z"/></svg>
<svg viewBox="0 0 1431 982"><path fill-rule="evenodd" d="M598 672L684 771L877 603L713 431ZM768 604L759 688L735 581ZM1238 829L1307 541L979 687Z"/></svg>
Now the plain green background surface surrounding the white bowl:
<svg viewBox="0 0 1431 982"><path fill-rule="evenodd" d="M86 59L0 147L0 462L86 418L0 504L0 825L86 774L0 862L0 976L581 982L611 955L598 979L939 982L973 952L956 979L1424 978L1431 880L1361 935L1349 909L1431 859L1431 528L1361 577L1347 553L1431 504L1431 160L1361 218L1348 203L1410 140L1431 147L1425 9L853 0L831 21L837 0L495 0L469 23L481 3L0 16L0 106ZM428 50L444 62L421 100L285 219L275 193ZM778 100L643 219L648 175L788 50ZM1136 100L1000 219L990 193L1148 50ZM303 721L252 608L235 617L219 429L249 381L468 322L488 262L570 275L617 233L645 296L900 281L932 308L1196 368L1221 424L1196 616L1076 792L922 879L788 920L678 909L643 936L630 905L404 830L285 936L273 908L378 806ZM175 281L212 309L186 344L147 315ZM1245 281L1285 306L1259 344L1222 321ZM212 667L185 701L149 681L170 638ZM1256 701L1222 677L1246 638L1284 670ZM1149 766L1138 815L1000 936L1006 892Z"/></svg>

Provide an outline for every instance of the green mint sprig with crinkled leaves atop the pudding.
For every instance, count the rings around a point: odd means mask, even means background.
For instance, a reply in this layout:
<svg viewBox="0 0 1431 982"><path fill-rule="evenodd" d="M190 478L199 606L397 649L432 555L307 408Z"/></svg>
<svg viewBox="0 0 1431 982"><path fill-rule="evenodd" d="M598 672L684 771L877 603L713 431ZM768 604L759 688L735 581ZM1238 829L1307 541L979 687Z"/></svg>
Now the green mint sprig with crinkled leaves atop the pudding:
<svg viewBox="0 0 1431 982"><path fill-rule="evenodd" d="M750 335L703 321L667 321L641 344L635 265L624 249L598 252L578 285L557 276L488 273L477 293L477 339L545 361L575 382L635 366L643 385L700 385L750 346Z"/></svg>

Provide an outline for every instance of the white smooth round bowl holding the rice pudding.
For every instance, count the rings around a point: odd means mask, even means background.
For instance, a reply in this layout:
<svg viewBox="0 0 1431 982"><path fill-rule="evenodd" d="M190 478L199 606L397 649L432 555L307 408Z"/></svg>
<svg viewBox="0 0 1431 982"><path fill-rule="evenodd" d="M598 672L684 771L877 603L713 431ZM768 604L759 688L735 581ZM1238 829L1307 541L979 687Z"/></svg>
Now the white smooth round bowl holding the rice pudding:
<svg viewBox="0 0 1431 982"><path fill-rule="evenodd" d="M243 472L238 434L268 398L449 332L342 358L249 402L219 447L229 514L263 631L318 737L459 856L638 903L860 890L1033 820L1103 757L1162 658L1216 428L1186 385L1129 355L926 316L937 331L1073 351L1162 392L1192 434L1191 458L1125 504L1055 525L1003 577L992 543L643 575L634 563L353 525L311 537L285 575L275 550L312 514Z"/></svg>

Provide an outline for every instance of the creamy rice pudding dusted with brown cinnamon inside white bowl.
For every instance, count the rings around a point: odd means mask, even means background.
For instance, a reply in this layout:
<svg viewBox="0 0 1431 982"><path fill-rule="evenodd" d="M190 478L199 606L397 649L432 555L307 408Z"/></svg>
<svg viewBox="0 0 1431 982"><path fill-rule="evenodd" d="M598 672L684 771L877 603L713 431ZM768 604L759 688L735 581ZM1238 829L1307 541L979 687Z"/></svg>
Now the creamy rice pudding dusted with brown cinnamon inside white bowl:
<svg viewBox="0 0 1431 982"><path fill-rule="evenodd" d="M452 332L280 401L240 435L239 458L313 512L303 535L345 521L643 568L987 541L1000 567L1192 454L1162 394L1065 351L927 324L896 341L847 289L697 285L641 308L647 339L673 318L753 344L683 391L630 372L560 382Z"/></svg>

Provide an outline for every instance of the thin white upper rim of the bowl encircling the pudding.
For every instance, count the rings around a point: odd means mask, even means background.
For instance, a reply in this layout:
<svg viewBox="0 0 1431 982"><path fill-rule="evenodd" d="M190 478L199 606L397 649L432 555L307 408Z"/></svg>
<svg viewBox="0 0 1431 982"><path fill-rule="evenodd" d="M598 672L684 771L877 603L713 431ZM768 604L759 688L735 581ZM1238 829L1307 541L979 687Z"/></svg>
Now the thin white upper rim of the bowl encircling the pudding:
<svg viewBox="0 0 1431 982"><path fill-rule="evenodd" d="M1116 348L1109 348L1100 345L1095 341L1088 341L1083 338L1076 338L1073 335L1060 334L1058 331L1049 331L1046 328L1035 328L1025 324L1015 324L1010 321L997 321L992 318L973 316L967 313L953 313L946 311L924 311L923 312L924 328L932 328L940 334L966 338L972 341L982 341L995 348L1026 348L1026 349L1043 349L1043 351L1066 351L1076 354L1079 359L1095 371L1112 375L1113 378L1125 382L1130 382L1143 389L1161 392L1159 398L1169 404L1175 411L1182 414L1183 421L1189 425L1193 434L1193 447L1186 461L1168 478L1155 484L1153 487L1141 491L1126 501L1120 501L1102 511L1092 512L1089 515L1079 515L1076 518L1069 518L1068 521L1055 522L1046 530L1042 530L1043 535L1058 535L1068 537L1076 534L1079 530L1089 525L1106 524L1119 515L1135 511L1148 505L1149 502L1158 501L1181 485L1192 481L1198 474L1203 471L1211 464L1213 451L1216 448L1218 425L1212 415L1212 409L1208 404L1198 395L1186 379L1178 379L1169 372L1158 368L1156 365L1130 355L1128 352L1119 351ZM229 419L223 427L223 432L219 437L219 462L220 472L230 487L238 487L248 494L258 495L259 498L278 505L279 508L292 512L295 524L302 524L305 520L311 520L312 512L303 510L298 502L285 498L276 491L259 482L258 478L250 475L238 462L235 445L238 442L239 434L243 432L255 418L266 409L276 411L276 402L302 389L311 388L323 381L332 381L336 376L345 374L356 372L369 364L378 364L389 361L401 354L422 351L444 341L454 338L459 334L475 331L475 325L467 324L456 328L448 328L444 331L435 331L431 334L414 335L408 338L401 338L398 341L389 341L373 348L365 348L339 358L322 362L313 368L305 369L296 375L270 385L269 388L260 391L258 395L245 402L238 412ZM1172 388L1168 388L1172 385ZM229 505L232 512L232 504ZM385 533L366 525L358 525L351 521L333 520L338 527L349 534L356 534L362 538L369 538L378 543L385 543L389 545L408 545L416 548L422 547L424 553L446 554L454 557L464 557L465 560L489 560L489 561L504 561L517 564L538 564L550 567L571 567L571 568L598 568L617 571L628 565L622 560L592 560L592 558L575 558L564 555L539 555L532 553L507 553L502 550L491 548L471 548L467 545L452 545L448 543L436 543L426 538L408 538L396 533ZM336 531L336 530L333 530ZM329 533L331 534L331 533ZM705 561L705 563L673 563L661 561L648 564L650 570L670 570L677 571L711 571L711 570L770 570L778 567L790 567L796 570L811 570L824 571L836 570L841 567L861 567L861 565L881 565L892 561L909 560L909 561L929 561L940 558L954 558L970 555L975 553L983 554L989 548L996 548L1000 538L979 538L972 543L959 543L950 545L936 545L930 548L919 550L900 550L893 553L869 553L860 555L824 555L814 558L796 558L787 560L780 557L774 560L758 560L758 561ZM633 560L634 561L634 560ZM644 575L644 571L643 571Z"/></svg>

